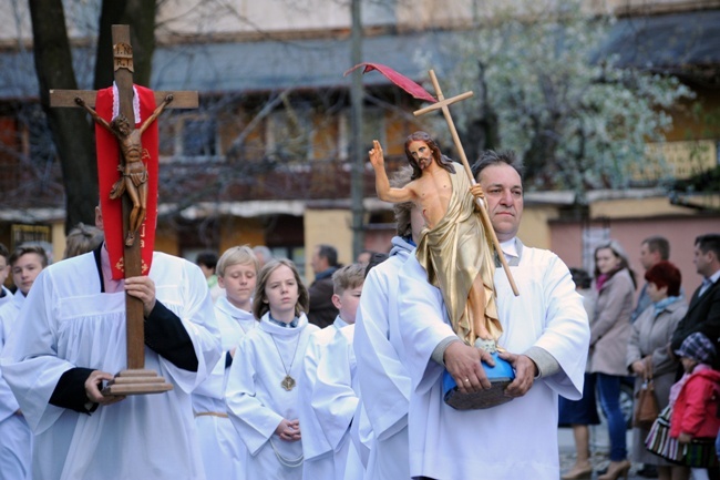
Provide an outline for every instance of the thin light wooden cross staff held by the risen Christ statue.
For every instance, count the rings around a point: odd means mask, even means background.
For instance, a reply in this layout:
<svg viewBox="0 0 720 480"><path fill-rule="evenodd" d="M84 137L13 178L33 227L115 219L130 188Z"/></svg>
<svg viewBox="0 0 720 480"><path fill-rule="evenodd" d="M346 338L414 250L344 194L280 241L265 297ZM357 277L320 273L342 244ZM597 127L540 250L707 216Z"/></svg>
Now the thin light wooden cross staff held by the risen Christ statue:
<svg viewBox="0 0 720 480"><path fill-rule="evenodd" d="M429 112L434 112L435 110L442 111L443 115L445 116L445 121L448 122L448 126L450 127L450 133L453 137L453 142L455 143L455 147L457 149L457 153L460 154L460 160L462 161L463 167L465 168L465 173L470 178L471 185L474 185L476 183L475 177L473 176L473 172L470 170L470 163L467 163L467 157L465 156L465 150L463 149L463 144L460 142L460 136L457 135L457 130L455 129L455 122L453 122L452 115L450 114L450 109L448 108L449 105L455 102L460 102L461 100L465 100L473 96L473 92L465 92L465 93L461 93L460 95L445 99L442 93L442 90L440 90L440 83L438 83L438 78L435 76L435 72L433 70L430 70L429 73L430 73L430 80L432 81L432 85L435 88L435 96L438 96L438 102L433 103L430 106L425 106L424 109L415 110L413 112L413 115L420 116ZM518 296L520 292L517 290L517 286L515 285L515 280L513 279L513 274L510 273L510 266L507 265L507 261L505 259L503 249L500 247L500 242L497 241L497 235L495 235L495 231L493 229L493 224L490 222L490 216L487 216L485 204L480 200L477 200L477 205L480 205L480 213L483 219L485 232L488 233L490 237L493 241L493 246L495 247L495 252L497 252L497 256L500 257L500 263L503 265L505 275L507 275L507 279L510 280L510 286L513 289L515 296Z"/></svg>

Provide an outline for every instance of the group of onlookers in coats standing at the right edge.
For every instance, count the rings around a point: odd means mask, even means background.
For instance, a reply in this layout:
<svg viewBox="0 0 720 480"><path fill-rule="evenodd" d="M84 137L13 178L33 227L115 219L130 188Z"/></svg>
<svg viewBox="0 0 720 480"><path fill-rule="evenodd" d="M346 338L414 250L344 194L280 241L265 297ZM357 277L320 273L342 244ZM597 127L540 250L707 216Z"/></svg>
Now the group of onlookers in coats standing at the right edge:
<svg viewBox="0 0 720 480"><path fill-rule="evenodd" d="M631 462L644 466L642 476L661 480L718 478L717 457L697 464L650 448L648 443L658 435L657 421L640 421L638 409L628 449L619 404L621 382L634 378L635 398L650 387L657 418L667 417L671 425L664 441L680 451L698 442L712 450L717 443L716 456L720 451L720 235L698 236L693 252L702 285L686 298L680 269L669 261L669 242L659 235L644 239L639 261L645 283L634 304L637 285L625 249L616 241L595 249L594 279L584 289L592 333L586 391L580 401L560 399L560 425L569 425L576 432L576 462L563 479L589 479L593 473L588 426L598 425L599 418L594 391L587 387L594 384L607 421L610 458L598 479L627 477ZM578 288L585 288L587 273L578 269L576 277ZM693 381L688 381L690 378Z"/></svg>

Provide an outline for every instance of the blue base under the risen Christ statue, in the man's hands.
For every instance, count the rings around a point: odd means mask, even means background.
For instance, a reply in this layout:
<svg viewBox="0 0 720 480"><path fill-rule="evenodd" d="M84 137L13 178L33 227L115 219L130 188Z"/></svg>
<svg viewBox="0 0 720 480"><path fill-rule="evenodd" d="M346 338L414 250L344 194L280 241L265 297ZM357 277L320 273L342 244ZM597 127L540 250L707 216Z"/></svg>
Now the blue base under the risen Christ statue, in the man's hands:
<svg viewBox="0 0 720 480"><path fill-rule="evenodd" d="M497 405L506 404L512 397L505 397L505 387L515 378L513 367L500 358L497 353L491 354L495 366L491 367L483 362L485 375L490 380L491 388L474 394L462 394L457 390L455 379L445 370L442 377L442 387L445 404L456 410L480 410Z"/></svg>

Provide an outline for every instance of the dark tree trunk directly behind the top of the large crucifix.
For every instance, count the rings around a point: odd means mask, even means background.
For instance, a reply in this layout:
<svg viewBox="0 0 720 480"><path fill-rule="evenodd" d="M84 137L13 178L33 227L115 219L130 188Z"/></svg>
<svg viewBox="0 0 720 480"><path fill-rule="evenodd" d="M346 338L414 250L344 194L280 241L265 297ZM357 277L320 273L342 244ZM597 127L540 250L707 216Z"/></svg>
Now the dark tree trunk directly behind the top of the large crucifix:
<svg viewBox="0 0 720 480"><path fill-rule="evenodd" d="M153 53L155 52L154 0L104 0L100 13L100 32L95 60L95 90L113 84L113 40L114 24L130 25L130 42L133 47L133 82L150 85Z"/></svg>

